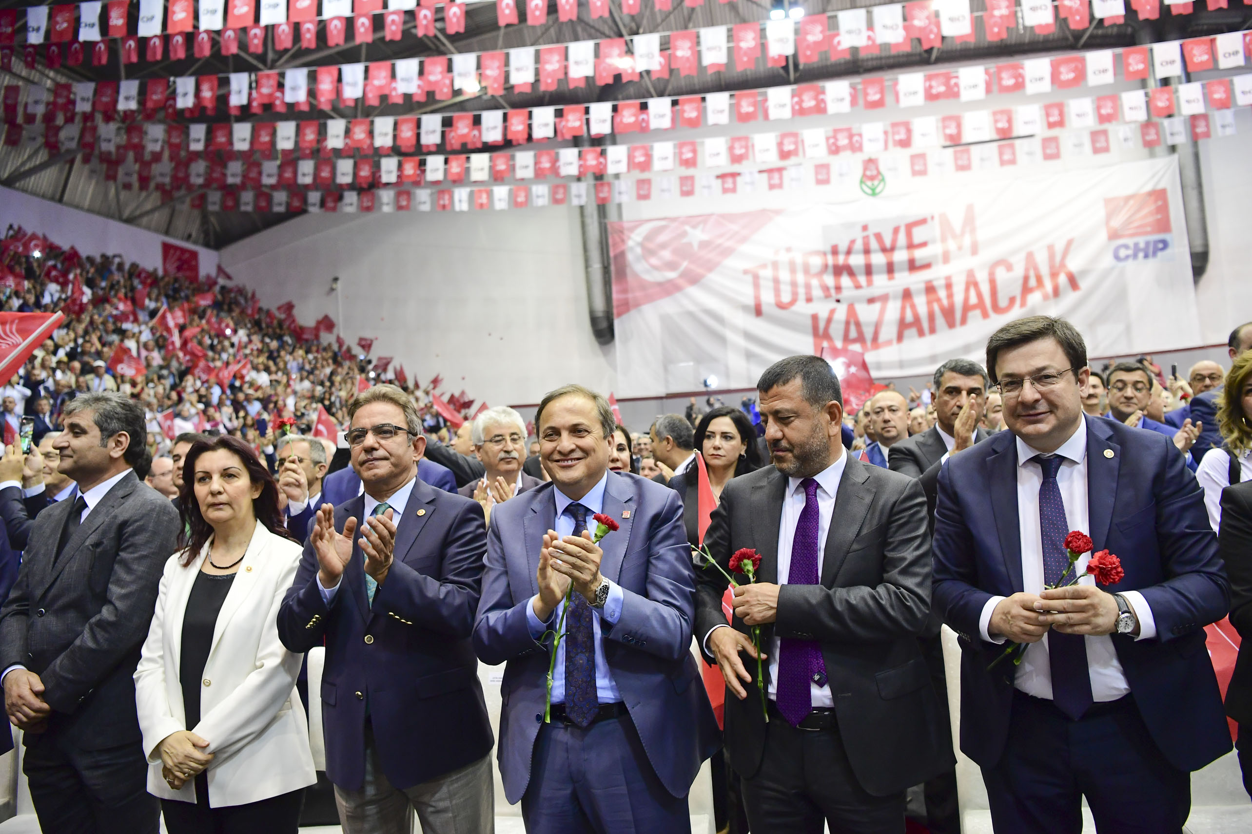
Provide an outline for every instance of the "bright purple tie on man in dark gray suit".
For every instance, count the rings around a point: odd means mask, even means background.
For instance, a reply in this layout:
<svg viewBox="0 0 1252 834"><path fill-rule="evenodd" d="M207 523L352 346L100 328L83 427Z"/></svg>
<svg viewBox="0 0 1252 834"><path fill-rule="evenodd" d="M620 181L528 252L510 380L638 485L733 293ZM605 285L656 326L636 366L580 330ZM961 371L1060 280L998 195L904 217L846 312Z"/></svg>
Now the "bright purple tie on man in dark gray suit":
<svg viewBox="0 0 1252 834"><path fill-rule="evenodd" d="M789 585L818 584L818 481L805 478L804 510L795 525L795 538L791 539L791 570L788 573ZM816 640L796 640L782 638L779 650L779 680L776 700L779 711L791 726L813 711L813 691L810 683L826 683L826 661L821 659L821 645Z"/></svg>

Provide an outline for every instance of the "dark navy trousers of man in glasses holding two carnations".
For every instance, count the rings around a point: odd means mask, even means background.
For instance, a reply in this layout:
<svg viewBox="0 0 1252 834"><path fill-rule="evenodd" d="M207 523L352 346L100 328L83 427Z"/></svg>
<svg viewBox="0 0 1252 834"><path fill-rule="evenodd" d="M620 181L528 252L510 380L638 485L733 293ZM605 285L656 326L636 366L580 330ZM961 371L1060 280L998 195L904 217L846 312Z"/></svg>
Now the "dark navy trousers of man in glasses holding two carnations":
<svg viewBox="0 0 1252 834"><path fill-rule="evenodd" d="M1004 754L983 781L992 824L1013 834L1079 834L1083 796L1101 834L1181 834L1191 813L1191 774L1162 755L1132 695L1074 721L1014 691Z"/></svg>

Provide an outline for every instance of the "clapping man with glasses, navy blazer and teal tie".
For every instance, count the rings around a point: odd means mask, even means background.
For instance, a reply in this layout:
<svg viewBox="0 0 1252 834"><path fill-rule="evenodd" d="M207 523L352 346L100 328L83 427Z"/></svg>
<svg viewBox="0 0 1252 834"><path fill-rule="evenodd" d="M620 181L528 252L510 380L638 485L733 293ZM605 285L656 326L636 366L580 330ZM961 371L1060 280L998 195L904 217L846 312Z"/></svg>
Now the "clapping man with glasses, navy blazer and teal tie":
<svg viewBox="0 0 1252 834"><path fill-rule="evenodd" d="M487 834L492 738L470 639L482 508L417 478L426 438L401 389L374 385L349 415L364 491L318 509L278 634L292 651L326 643L326 773L347 834L407 834L414 809L429 834Z"/></svg>

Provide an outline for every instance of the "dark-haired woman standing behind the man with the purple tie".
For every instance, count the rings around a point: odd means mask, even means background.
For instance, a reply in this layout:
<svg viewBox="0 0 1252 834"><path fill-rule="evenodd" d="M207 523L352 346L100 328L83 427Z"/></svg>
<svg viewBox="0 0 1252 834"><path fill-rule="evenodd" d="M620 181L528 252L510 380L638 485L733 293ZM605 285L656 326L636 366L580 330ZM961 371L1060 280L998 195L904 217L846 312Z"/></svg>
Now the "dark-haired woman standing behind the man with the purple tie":
<svg viewBox="0 0 1252 834"><path fill-rule="evenodd" d="M731 478L746 475L761 468L761 451L756 444L756 428L741 409L721 405L705 414L696 425L694 446L704 471L709 476L714 504L721 500L721 490ZM676 490L682 499L682 523L687 529L687 541L699 548L702 540L700 529L700 461L687 466L686 471L670 479L670 489ZM711 509L711 508L710 508ZM727 589L729 593L729 589ZM722 608L730 610L729 603ZM726 681L717 666L701 661L705 689L709 691L717 725L722 723L722 704L726 696ZM744 810L739 774L722 753L710 759L712 769L714 816L719 831L730 830L740 834L747 830L747 815Z"/></svg>

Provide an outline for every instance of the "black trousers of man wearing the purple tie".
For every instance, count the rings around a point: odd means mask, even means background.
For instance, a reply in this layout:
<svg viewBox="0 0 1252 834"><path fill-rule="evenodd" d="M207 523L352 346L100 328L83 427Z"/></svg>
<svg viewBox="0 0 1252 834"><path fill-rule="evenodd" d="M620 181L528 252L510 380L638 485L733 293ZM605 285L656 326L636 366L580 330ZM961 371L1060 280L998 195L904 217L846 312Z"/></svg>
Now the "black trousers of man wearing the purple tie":
<svg viewBox="0 0 1252 834"><path fill-rule="evenodd" d="M744 779L752 834L903 834L904 791L874 796L860 786L839 730L800 730L771 710L765 758Z"/></svg>

